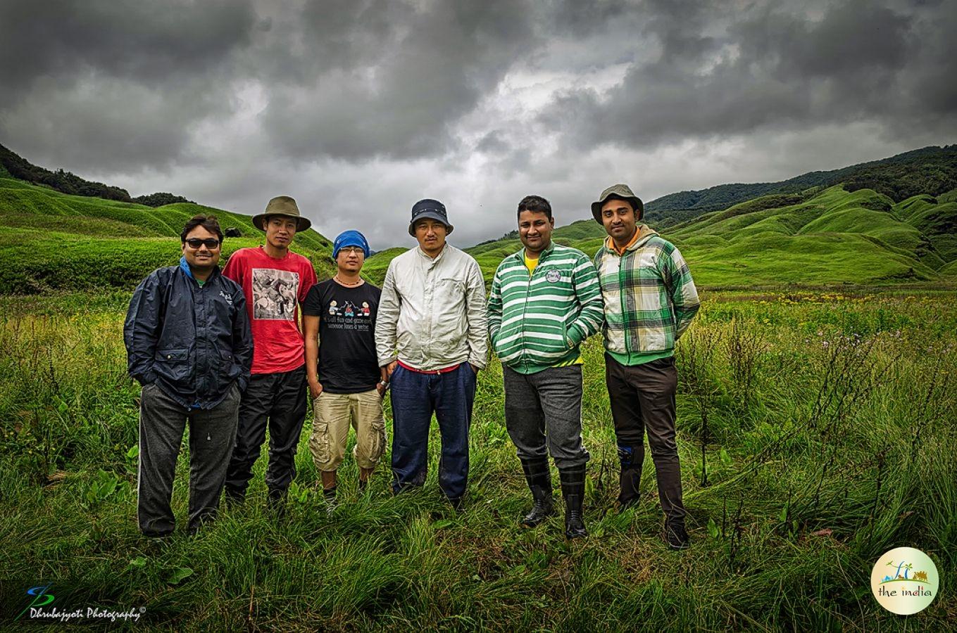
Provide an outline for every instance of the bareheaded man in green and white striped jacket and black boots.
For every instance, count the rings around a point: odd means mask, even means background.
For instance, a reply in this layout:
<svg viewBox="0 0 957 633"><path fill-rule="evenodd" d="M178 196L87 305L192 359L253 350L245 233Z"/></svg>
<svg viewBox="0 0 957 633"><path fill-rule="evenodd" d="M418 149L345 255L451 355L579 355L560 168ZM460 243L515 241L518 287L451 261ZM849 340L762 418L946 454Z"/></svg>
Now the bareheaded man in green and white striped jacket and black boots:
<svg viewBox="0 0 957 633"><path fill-rule="evenodd" d="M551 241L555 220L540 196L519 203L524 248L505 257L492 280L488 327L502 362L505 426L518 448L533 506L523 525L554 513L550 453L562 480L565 534L588 532L582 518L582 359L578 346L604 319L598 276L584 252Z"/></svg>

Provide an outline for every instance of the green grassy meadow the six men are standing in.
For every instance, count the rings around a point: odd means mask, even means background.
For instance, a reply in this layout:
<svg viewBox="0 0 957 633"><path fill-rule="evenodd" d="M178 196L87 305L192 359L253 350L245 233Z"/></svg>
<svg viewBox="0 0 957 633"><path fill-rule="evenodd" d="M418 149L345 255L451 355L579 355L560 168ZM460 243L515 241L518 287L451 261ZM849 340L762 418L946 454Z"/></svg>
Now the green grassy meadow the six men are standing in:
<svg viewBox="0 0 957 633"><path fill-rule="evenodd" d="M495 362L479 375L463 513L439 498L433 429L424 491L392 497L384 465L360 497L348 458L342 506L327 516L303 433L284 519L263 508L260 460L245 507L224 510L196 537L180 528L162 543L144 539L130 451L139 389L125 376L121 338L127 300L121 291L0 297L0 578L81 586L103 606L142 605L146 630L869 631L952 622L952 292L706 293L678 353L693 538L683 553L657 537L653 496L613 510L598 338L584 347L586 539L567 542L561 517L518 527L530 497L502 425ZM173 494L181 522L187 464L184 454ZM642 481L654 490L650 456ZM868 585L874 561L901 545L927 552L943 579L941 595L909 618L883 611ZM22 600L13 587L0 583L5 604Z"/></svg>

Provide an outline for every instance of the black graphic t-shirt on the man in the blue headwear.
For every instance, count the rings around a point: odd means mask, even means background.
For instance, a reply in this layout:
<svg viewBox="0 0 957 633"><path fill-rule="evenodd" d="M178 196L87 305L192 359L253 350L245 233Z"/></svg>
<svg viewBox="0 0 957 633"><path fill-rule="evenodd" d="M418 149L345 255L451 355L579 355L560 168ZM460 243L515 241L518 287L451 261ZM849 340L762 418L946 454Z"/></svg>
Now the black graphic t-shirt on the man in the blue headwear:
<svg viewBox="0 0 957 633"><path fill-rule="evenodd" d="M329 393L359 393L379 382L375 312L382 291L366 282L346 288L326 279L311 289L302 313L319 316L319 382Z"/></svg>

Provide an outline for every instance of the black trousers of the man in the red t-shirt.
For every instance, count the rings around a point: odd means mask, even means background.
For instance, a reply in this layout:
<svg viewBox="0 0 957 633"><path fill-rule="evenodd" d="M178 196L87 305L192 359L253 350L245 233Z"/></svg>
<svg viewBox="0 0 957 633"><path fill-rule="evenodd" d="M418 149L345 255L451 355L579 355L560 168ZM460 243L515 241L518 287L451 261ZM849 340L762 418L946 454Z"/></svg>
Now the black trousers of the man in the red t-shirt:
<svg viewBox="0 0 957 633"><path fill-rule="evenodd" d="M305 366L278 374L253 374L242 403L233 457L226 473L226 494L242 500L253 478L269 426L269 466L266 488L271 497L281 497L296 476L296 448L299 447L306 409Z"/></svg>

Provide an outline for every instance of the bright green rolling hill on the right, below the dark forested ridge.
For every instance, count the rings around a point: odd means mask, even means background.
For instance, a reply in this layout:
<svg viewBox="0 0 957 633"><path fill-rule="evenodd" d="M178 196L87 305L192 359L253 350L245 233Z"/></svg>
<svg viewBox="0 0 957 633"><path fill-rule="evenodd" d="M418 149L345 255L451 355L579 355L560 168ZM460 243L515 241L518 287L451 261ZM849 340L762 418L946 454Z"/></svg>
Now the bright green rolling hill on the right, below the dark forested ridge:
<svg viewBox="0 0 957 633"><path fill-rule="evenodd" d="M661 229L678 245L696 281L729 288L781 284L893 284L935 281L957 273L957 196L917 195L895 203L871 189L812 187L771 194ZM556 242L593 255L605 231L581 220L555 229ZM486 282L518 238L465 249ZM376 253L367 275L381 281L403 250Z"/></svg>

